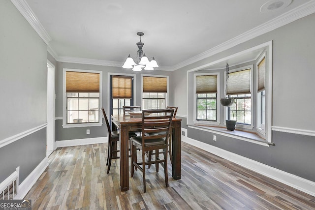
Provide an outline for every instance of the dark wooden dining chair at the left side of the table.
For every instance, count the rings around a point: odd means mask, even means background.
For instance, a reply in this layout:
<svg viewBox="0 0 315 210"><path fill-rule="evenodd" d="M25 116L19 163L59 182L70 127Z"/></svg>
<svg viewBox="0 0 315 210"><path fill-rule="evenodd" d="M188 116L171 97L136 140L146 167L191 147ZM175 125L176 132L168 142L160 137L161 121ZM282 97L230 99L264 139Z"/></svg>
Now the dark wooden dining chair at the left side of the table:
<svg viewBox="0 0 315 210"><path fill-rule="evenodd" d="M111 131L110 129L110 125L109 125L109 121L106 117L106 113L104 108L101 108L102 111L102 115L103 118L105 119L106 122L106 126L107 126L107 137L108 137L108 149L107 149L107 160L106 160L106 166L107 166L107 174L109 173L110 170L110 166L112 164L112 159L118 159L120 158L119 155L117 155L117 153L119 152L119 150L117 149L117 146L115 147L116 149L114 150L114 144L117 144L117 142L119 142L119 135L120 135L120 131L116 130L116 131ZM132 136L137 136L137 134L133 133L133 132L129 132L129 138ZM129 148L130 150L130 148Z"/></svg>

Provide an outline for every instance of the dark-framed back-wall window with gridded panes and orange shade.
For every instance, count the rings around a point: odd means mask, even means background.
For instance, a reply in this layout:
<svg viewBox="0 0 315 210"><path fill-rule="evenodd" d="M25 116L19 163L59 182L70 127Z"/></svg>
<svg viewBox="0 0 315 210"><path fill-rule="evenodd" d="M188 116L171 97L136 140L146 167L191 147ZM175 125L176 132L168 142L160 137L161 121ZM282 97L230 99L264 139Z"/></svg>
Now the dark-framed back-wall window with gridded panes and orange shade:
<svg viewBox="0 0 315 210"><path fill-rule="evenodd" d="M132 79L132 76L111 76L111 114L123 114L123 106L132 106Z"/></svg>

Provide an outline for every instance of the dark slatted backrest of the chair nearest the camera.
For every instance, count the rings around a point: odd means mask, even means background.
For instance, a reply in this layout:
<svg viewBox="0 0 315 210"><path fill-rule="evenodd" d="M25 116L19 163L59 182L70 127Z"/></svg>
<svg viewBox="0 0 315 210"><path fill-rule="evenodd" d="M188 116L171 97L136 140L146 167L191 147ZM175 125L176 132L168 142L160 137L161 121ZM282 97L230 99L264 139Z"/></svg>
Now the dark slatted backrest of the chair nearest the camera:
<svg viewBox="0 0 315 210"><path fill-rule="evenodd" d="M171 130L174 109L142 111L142 145L147 139L165 138L166 144Z"/></svg>

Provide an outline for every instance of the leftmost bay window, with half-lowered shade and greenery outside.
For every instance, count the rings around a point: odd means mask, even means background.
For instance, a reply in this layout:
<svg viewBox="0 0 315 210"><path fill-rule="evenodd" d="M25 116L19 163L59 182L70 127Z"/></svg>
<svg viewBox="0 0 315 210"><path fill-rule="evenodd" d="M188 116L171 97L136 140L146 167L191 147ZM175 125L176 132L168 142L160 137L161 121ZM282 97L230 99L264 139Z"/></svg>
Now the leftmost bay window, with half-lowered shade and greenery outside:
<svg viewBox="0 0 315 210"><path fill-rule="evenodd" d="M219 124L219 73L194 74L195 123Z"/></svg>

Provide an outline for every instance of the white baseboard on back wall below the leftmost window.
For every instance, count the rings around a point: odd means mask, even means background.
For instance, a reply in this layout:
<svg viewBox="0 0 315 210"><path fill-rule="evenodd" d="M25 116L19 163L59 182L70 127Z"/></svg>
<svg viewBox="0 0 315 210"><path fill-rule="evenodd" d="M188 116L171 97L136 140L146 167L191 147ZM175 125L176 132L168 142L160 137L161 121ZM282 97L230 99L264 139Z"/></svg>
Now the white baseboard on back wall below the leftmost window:
<svg viewBox="0 0 315 210"><path fill-rule="evenodd" d="M106 143L106 142L108 142L107 137L97 137L97 138L88 138L88 139L71 139L71 140L56 141L55 148L101 144L101 143Z"/></svg>

